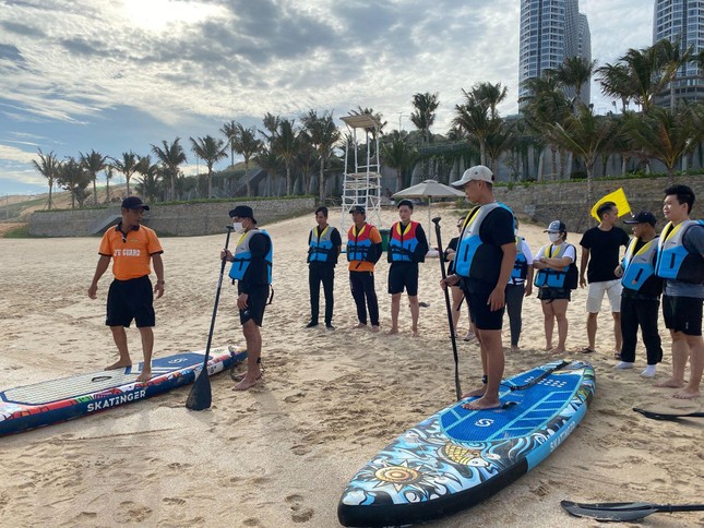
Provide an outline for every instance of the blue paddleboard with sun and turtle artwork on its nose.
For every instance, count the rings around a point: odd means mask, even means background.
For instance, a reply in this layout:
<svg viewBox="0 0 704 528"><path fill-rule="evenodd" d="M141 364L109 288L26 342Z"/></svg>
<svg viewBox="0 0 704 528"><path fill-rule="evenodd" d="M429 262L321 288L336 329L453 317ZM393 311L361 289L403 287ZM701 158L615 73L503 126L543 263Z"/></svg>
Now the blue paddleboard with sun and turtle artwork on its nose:
<svg viewBox="0 0 704 528"><path fill-rule="evenodd" d="M337 516L345 526L397 526L473 506L552 453L580 423L594 369L557 361L501 383L502 406L453 404L408 430L355 475Z"/></svg>

